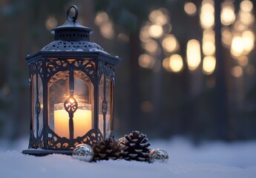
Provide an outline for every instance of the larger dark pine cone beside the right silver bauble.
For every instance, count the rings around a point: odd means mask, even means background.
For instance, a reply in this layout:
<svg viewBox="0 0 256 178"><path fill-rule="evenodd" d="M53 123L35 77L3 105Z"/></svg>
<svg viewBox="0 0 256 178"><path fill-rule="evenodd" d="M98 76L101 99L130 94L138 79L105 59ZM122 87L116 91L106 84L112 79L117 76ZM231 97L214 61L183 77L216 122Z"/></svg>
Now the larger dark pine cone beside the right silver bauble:
<svg viewBox="0 0 256 178"><path fill-rule="evenodd" d="M124 136L122 139L122 145L124 145L124 150L122 153L122 158L125 160L136 160L145 161L149 160L150 143L145 134L139 131L132 131L129 135Z"/></svg>

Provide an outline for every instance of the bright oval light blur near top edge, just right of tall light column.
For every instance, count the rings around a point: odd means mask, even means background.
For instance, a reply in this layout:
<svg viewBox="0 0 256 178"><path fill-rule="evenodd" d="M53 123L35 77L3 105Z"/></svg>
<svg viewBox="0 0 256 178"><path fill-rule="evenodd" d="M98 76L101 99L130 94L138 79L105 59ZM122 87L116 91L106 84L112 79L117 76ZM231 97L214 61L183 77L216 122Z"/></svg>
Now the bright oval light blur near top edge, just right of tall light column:
<svg viewBox="0 0 256 178"><path fill-rule="evenodd" d="M221 23L224 25L229 25L232 24L234 20L234 6L232 4L223 4L221 10Z"/></svg>

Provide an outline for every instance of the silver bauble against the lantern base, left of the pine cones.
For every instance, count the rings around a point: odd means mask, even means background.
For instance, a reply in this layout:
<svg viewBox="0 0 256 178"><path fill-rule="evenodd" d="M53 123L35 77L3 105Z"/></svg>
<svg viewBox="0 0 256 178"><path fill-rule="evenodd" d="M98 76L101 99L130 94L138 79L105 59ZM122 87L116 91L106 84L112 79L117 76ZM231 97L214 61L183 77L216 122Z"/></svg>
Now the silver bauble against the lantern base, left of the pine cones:
<svg viewBox="0 0 256 178"><path fill-rule="evenodd" d="M73 149L72 157L73 159L79 159L85 162L91 162L93 160L93 149L90 145L79 144Z"/></svg>

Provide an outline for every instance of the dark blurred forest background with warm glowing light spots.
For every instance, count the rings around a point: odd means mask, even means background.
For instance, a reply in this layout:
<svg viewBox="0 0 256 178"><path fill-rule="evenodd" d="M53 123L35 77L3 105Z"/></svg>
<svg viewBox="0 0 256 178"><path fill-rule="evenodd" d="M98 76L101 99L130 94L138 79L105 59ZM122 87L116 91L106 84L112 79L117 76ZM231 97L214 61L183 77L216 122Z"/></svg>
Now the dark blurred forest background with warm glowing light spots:
<svg viewBox="0 0 256 178"><path fill-rule="evenodd" d="M248 0L0 0L0 138L28 136L24 57L70 5L116 66L115 132L256 138L255 5Z"/></svg>

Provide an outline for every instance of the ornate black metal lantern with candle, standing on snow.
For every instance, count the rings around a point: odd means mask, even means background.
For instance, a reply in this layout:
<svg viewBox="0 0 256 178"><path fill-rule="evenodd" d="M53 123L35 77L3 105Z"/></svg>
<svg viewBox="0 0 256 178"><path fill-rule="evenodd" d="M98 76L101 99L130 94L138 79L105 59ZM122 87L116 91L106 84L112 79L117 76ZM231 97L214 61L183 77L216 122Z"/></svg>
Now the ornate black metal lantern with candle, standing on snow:
<svg viewBox="0 0 256 178"><path fill-rule="evenodd" d="M75 16L70 19L70 10ZM29 65L30 142L23 154L72 154L80 143L93 145L113 131L114 65L111 56L90 42L93 30L76 21L51 30L54 42L26 57ZM37 149L41 148L41 149Z"/></svg>

